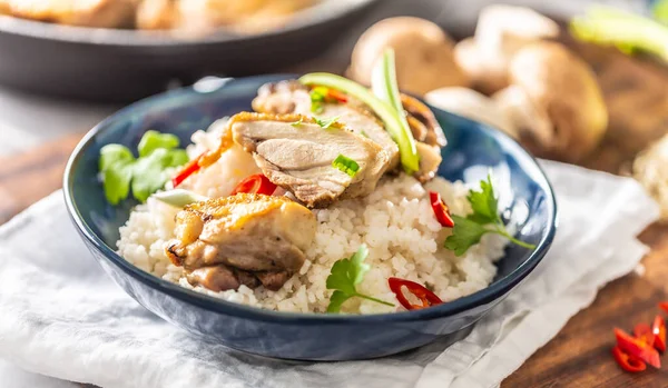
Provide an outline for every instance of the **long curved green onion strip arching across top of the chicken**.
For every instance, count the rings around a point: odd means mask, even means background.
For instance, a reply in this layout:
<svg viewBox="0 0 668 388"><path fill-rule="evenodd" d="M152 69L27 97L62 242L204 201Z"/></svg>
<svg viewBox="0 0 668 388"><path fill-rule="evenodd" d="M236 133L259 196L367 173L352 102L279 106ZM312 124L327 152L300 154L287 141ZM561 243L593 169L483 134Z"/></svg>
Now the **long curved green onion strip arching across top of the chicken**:
<svg viewBox="0 0 668 388"><path fill-rule="evenodd" d="M420 169L420 156L410 128L403 126L396 110L375 97L369 89L341 76L312 72L299 78L304 84L318 84L341 90L367 105L385 123L385 129L399 146L401 163L407 173Z"/></svg>

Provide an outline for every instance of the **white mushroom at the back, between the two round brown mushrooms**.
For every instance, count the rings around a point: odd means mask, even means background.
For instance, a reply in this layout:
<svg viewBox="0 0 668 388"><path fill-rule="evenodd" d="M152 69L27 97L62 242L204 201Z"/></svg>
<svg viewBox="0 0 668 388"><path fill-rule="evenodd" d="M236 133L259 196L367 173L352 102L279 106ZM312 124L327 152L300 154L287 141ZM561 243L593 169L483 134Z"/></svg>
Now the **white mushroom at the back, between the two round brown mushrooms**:
<svg viewBox="0 0 668 388"><path fill-rule="evenodd" d="M475 89L491 94L508 86L508 67L524 46L554 38L559 26L525 7L494 4L482 9L475 34L454 48L458 64Z"/></svg>

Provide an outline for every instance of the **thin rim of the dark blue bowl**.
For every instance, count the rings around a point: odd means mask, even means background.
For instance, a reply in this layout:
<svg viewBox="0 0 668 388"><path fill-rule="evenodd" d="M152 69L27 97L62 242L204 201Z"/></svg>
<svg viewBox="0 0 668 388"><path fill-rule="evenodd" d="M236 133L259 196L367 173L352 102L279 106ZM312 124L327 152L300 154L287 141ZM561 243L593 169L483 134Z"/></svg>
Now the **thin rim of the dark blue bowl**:
<svg viewBox="0 0 668 388"><path fill-rule="evenodd" d="M294 74L264 74L264 76L254 76L254 77L239 77L233 80L239 81L255 81L261 79L278 79L278 78L289 78L294 77ZM79 141L75 150L72 151L63 175L63 197L67 206L68 213L76 225L78 232L84 237L84 239L92 247L95 247L106 259L110 261L112 265L118 267L120 270L135 278L138 281L141 281L145 286L148 286L155 290L164 292L170 297L179 299L183 302L195 305L199 308L217 312L224 315L233 315L240 318L252 319L252 320L261 320L261 321L273 321L273 322L283 322L283 324L314 324L314 325L340 325L340 324L371 324L371 322L387 322L387 321L415 321L415 320L425 320L425 319L435 319L445 316L453 316L462 311L466 311L473 309L475 307L489 304L495 299L504 297L509 291L511 291L520 281L522 281L542 260L549 250L552 240L554 239L554 235L557 232L558 227L558 209L557 209L557 199L554 196L554 191L552 186L546 176L543 169L538 163L538 161L527 152L514 139L510 138L505 133L491 128L490 126L478 122L474 120L470 120L468 118L450 113L444 111L448 115L455 116L458 119L469 121L475 126L481 127L481 129L488 132L493 138L500 138L503 141L512 145L514 150L511 149L513 153L519 152L519 156L528 161L532 162L538 171L541 173L542 179L546 182L546 196L549 211L549 220L547 226L547 232L543 235L541 240L537 243L537 248L529 255L529 257L515 268L512 272L504 276L503 278L492 282L488 287L482 290L475 291L468 296L458 298L455 300L438 305L434 307L420 309L420 310L410 310L410 311L397 311L397 312L384 312L384 314L371 314L371 315L334 315L334 314L316 314L316 312L285 312L285 311L275 311L263 309L259 307L253 307L242 304L236 304L232 301L227 301L220 298L216 298L203 292L197 292L187 288L184 288L177 283L164 280L157 276L148 273L138 267L134 266L126 259L124 259L120 255L118 255L111 247L107 246L94 231L84 221L77 203L75 201L72 190L73 190L73 170L78 165L80 158L84 155L84 151L88 149L91 143L95 141L97 136L104 132L109 128L109 125L117 120L117 118L122 117L125 113L130 110L137 110L143 108L144 106L151 105L161 99L166 99L168 97L174 96L186 96L186 94L200 94L195 90L194 87L174 89L168 92L158 93L143 100L139 100L135 103L131 103L117 112L112 113L98 125L96 125L86 136ZM441 109L434 108L430 106L430 108L434 110ZM540 185L541 187L543 185Z"/></svg>

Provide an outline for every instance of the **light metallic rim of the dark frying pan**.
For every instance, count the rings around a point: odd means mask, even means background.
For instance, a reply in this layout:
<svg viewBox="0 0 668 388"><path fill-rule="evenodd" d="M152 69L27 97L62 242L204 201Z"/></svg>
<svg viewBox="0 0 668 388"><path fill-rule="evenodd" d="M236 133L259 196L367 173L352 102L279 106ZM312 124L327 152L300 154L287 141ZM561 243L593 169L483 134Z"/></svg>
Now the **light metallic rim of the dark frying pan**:
<svg viewBox="0 0 668 388"><path fill-rule="evenodd" d="M193 44L216 44L242 40L259 40L298 31L304 28L337 20L351 13L356 13L379 1L380 0L354 0L347 2L335 0L320 1L316 4L297 11L287 23L257 33L234 32L233 30L220 27L212 33L189 38L171 33L171 30L137 30L58 24L18 18L10 14L0 14L0 33L10 33L19 37L43 39L55 42L99 46L184 47Z"/></svg>

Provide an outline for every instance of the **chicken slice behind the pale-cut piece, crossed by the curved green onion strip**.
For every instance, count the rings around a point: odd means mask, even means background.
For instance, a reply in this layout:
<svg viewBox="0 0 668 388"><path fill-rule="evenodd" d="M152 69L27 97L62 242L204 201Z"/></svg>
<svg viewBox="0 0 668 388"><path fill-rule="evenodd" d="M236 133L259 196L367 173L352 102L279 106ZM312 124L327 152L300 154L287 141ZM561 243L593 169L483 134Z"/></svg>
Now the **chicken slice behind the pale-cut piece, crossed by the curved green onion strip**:
<svg viewBox="0 0 668 388"><path fill-rule="evenodd" d="M253 109L261 113L317 116L320 118L338 118L353 132L367 137L383 148L390 160L389 169L399 165L399 147L383 123L363 103L348 98L347 103L322 105L322 111L311 111L308 88L297 80L265 83L253 100Z"/></svg>

